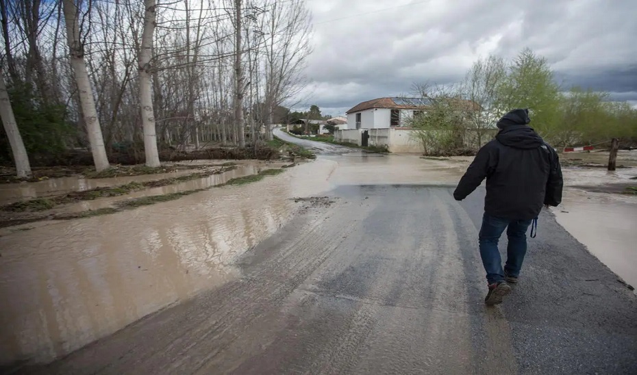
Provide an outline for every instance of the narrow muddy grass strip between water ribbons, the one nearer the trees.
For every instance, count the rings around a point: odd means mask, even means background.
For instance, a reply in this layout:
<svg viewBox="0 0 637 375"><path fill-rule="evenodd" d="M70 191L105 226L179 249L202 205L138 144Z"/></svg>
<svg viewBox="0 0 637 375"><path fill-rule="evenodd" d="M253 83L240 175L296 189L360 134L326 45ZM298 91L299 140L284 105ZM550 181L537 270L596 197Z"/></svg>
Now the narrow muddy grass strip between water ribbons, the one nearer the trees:
<svg viewBox="0 0 637 375"><path fill-rule="evenodd" d="M66 205L77 201L93 201L97 198L106 198L109 196L123 196L130 192L144 190L146 188L158 188L160 186L172 185L173 183L182 183L186 181L203 179L210 177L212 174L221 174L228 170L234 170L236 166L227 166L210 172L197 172L186 174L185 176L171 177L170 179L160 179L156 181L131 182L125 185L113 186L110 188L95 188L84 190L83 192L71 192L68 194L51 196L49 198L36 198L29 201L21 201L10 205L0 206L1 211L12 212L35 212L46 211L58 205Z"/></svg>

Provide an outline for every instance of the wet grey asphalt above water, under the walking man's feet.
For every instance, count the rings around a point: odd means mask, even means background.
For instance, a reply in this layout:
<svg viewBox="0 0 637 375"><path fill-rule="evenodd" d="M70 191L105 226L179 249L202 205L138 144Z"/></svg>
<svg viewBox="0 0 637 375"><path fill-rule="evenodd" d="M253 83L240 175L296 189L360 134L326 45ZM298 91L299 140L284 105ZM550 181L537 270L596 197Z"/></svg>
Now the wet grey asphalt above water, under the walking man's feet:
<svg viewBox="0 0 637 375"><path fill-rule="evenodd" d="M635 294L547 212L519 284L486 307L484 190L452 191L341 185L243 255L238 279L23 371L637 373Z"/></svg>

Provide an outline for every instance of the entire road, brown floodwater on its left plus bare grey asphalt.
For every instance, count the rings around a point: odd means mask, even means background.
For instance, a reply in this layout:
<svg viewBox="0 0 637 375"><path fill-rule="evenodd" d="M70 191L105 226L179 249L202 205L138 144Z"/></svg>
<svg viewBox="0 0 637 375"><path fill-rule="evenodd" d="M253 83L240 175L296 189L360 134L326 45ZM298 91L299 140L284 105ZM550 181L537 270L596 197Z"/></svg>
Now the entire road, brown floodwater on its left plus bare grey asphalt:
<svg viewBox="0 0 637 375"><path fill-rule="evenodd" d="M0 237L0 365L634 372L637 298L547 212L510 298L484 306L484 190L451 196L469 159L332 153L251 185Z"/></svg>

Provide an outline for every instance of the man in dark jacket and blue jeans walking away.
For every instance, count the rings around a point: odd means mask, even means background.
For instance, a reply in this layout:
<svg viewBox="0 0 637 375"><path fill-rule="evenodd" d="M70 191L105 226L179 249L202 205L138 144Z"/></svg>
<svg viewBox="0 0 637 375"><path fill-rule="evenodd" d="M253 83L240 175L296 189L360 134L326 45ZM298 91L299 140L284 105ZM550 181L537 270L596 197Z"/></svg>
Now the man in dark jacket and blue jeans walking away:
<svg viewBox="0 0 637 375"><path fill-rule="evenodd" d="M529 123L528 109L514 109L497 122L500 129L478 151L453 192L462 201L486 178L484 216L479 233L480 257L489 291L487 305L497 305L516 283L527 251L526 232L542 205L562 202L562 170L558 154ZM498 250L507 229L507 259L502 268Z"/></svg>

